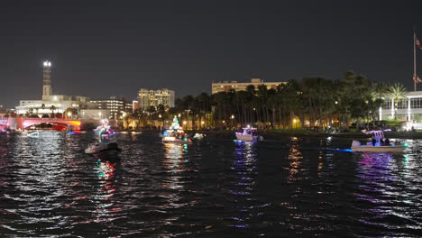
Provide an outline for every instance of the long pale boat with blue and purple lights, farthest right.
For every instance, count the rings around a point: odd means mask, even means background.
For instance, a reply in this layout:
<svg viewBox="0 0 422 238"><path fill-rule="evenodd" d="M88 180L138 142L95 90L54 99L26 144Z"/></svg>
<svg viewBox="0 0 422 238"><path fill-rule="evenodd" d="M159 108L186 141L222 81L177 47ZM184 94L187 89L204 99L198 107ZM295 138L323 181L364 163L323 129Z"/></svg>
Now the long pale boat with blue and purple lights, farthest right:
<svg viewBox="0 0 422 238"><path fill-rule="evenodd" d="M352 147L350 148L353 152L402 152L408 147L406 143L401 144L400 142L387 142L388 139L384 137L382 131L364 131L363 133L373 133L372 142L361 144L361 142L353 140Z"/></svg>

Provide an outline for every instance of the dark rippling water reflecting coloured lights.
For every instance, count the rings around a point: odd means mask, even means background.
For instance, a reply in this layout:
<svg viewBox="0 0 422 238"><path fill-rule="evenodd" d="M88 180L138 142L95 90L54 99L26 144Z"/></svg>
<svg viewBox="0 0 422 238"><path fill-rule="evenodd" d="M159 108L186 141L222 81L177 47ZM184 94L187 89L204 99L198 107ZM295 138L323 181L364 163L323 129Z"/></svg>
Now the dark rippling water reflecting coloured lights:
<svg viewBox="0 0 422 238"><path fill-rule="evenodd" d="M0 135L0 236L422 234L422 141L393 155L330 150L351 143L335 138L116 139L111 163L84 155L94 133Z"/></svg>

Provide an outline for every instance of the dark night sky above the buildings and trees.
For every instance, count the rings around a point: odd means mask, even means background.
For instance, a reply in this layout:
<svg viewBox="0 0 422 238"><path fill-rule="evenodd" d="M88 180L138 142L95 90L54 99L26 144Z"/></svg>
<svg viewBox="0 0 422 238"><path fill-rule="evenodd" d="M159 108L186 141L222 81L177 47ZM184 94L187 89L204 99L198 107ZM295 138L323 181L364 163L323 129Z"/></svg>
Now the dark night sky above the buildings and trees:
<svg viewBox="0 0 422 238"><path fill-rule="evenodd" d="M53 94L93 98L133 100L140 87L197 95L213 80L335 79L349 69L413 89L413 26L422 39L422 1L64 2L2 1L5 107L41 99L44 59Z"/></svg>

